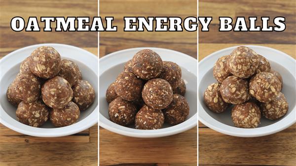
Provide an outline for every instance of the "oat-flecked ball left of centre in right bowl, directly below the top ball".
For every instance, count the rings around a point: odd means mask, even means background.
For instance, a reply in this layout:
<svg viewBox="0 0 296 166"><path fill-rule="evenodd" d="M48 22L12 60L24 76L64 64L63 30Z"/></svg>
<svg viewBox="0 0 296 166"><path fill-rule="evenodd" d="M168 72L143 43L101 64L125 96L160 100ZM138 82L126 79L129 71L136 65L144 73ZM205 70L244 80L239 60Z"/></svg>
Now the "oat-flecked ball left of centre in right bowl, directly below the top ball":
<svg viewBox="0 0 296 166"><path fill-rule="evenodd" d="M250 99L248 82L234 75L223 80L220 93L225 102L241 104Z"/></svg>

